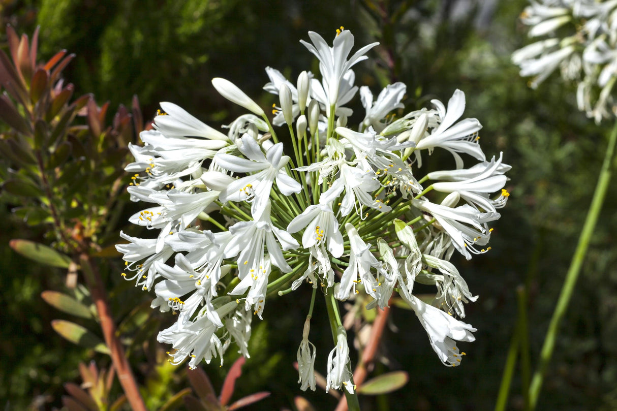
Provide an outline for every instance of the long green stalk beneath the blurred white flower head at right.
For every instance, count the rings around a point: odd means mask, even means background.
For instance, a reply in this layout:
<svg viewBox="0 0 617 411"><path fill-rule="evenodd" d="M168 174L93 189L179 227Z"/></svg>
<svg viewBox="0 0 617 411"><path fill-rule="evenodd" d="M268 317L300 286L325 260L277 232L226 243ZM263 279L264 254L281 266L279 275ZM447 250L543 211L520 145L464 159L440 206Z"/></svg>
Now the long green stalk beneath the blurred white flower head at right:
<svg viewBox="0 0 617 411"><path fill-rule="evenodd" d="M595 225L598 222L598 217L600 216L600 211L602 210L604 197L606 196L608 190L608 183L610 183L611 179L611 172L613 168L612 162L615 153L616 141L617 122L613 127L613 131L611 132L608 141L607 152L602 162L602 169L600 170L600 175L598 176L598 183L595 187L594 197L591 201L589 211L587 212L587 217L581 231L581 236L579 237L572 262L570 263L568 273L566 274L566 279L563 283L563 287L561 288L561 294L557 301L557 305L555 305L553 317L550 319L549 330L546 333L544 345L542 346L542 351L540 352L540 363L536 369L536 372L534 372L531 385L529 386L528 411L533 411L536 409L538 397L540 396L540 390L542 389L542 382L544 381L544 376L546 375L547 368L549 367L549 362L553 355L553 349L555 349L557 331L559 329L561 319L568 309L568 304L574 291L574 285L576 284L579 272L581 272L582 263L585 259L585 255L587 254L589 241L594 233Z"/></svg>

